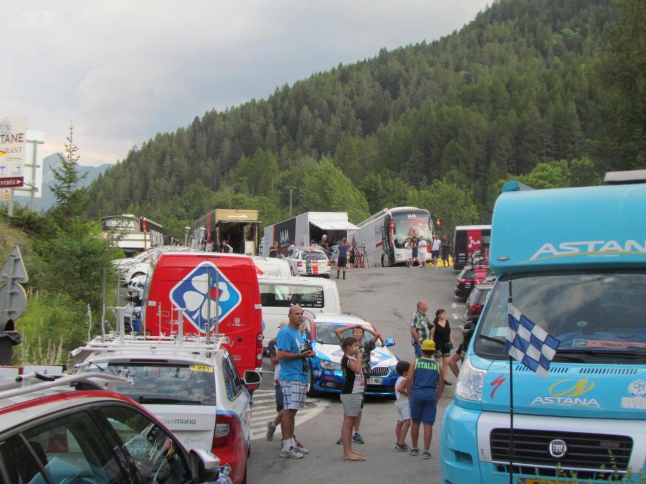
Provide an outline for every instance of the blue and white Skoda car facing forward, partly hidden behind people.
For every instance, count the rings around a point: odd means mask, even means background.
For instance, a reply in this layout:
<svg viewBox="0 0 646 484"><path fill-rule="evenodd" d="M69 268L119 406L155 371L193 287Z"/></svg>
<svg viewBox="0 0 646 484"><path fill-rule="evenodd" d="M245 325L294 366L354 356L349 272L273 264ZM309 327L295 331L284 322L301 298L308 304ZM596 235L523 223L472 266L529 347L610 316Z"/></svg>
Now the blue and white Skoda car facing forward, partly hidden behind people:
<svg viewBox="0 0 646 484"><path fill-rule="evenodd" d="M341 369L341 358L343 352L340 341L335 330L339 327L364 326L374 328L360 316L353 314L313 314L306 312L306 336L316 356L310 358L311 378L309 381L309 396L318 392L340 393L346 378ZM344 333L351 336L351 332ZM372 335L364 334L362 343L369 341ZM399 375L395 371L395 365L399 358L393 355L388 347L395 345L393 339L386 339L386 345L382 346L377 341L377 348L370 353L371 374L368 378L366 394L368 395L395 395L395 381Z"/></svg>

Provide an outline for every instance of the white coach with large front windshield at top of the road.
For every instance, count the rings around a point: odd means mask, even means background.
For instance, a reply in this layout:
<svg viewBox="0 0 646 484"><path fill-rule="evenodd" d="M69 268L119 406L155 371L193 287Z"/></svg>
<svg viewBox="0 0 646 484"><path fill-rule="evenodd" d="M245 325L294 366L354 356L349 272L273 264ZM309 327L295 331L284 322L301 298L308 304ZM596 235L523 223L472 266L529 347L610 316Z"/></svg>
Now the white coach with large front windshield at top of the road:
<svg viewBox="0 0 646 484"><path fill-rule="evenodd" d="M428 210L416 207L384 208L378 214L357 224L359 230L349 232L350 243L364 247L368 265L389 267L406 262L404 243L411 236L433 239L433 224ZM430 245L426 261L431 260Z"/></svg>

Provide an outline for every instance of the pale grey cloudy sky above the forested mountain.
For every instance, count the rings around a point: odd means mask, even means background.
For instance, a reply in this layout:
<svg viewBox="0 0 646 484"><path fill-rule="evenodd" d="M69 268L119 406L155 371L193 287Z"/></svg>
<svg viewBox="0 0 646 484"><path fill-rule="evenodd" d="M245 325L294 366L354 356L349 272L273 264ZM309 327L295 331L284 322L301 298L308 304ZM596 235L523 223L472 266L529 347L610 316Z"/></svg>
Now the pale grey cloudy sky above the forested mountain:
<svg viewBox="0 0 646 484"><path fill-rule="evenodd" d="M490 0L489 0L490 1ZM3 5L0 114L81 165L115 163L135 143L208 110L264 98L382 47L459 30L486 0L32 0Z"/></svg>

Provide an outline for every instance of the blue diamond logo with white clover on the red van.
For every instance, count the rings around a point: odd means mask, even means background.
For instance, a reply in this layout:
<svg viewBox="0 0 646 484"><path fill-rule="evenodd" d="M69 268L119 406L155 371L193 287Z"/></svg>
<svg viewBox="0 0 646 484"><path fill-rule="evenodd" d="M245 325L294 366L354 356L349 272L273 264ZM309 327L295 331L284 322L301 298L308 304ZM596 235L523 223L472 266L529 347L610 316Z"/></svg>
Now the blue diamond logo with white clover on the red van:
<svg viewBox="0 0 646 484"><path fill-rule="evenodd" d="M207 287L209 273L211 286ZM217 276L217 277L216 277ZM216 287L216 279L218 287ZM211 294L211 327L215 323L216 299L219 306L219 321L229 316L242 302L242 295L221 270L211 262L204 261L171 290L171 303L175 308L185 308L186 318L196 329L205 332L209 316L209 293Z"/></svg>

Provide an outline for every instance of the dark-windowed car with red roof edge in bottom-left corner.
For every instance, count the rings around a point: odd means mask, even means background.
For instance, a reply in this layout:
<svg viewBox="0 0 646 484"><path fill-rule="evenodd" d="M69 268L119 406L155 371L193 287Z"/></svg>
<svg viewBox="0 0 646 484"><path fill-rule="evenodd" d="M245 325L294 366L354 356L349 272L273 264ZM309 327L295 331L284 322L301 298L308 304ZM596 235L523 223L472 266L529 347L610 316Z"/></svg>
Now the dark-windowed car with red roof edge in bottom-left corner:
<svg viewBox="0 0 646 484"><path fill-rule="evenodd" d="M96 389L125 378L98 373L19 378L48 381L0 392L1 482L147 484L218 479L220 461L213 454L187 452L145 408L123 395Z"/></svg>

